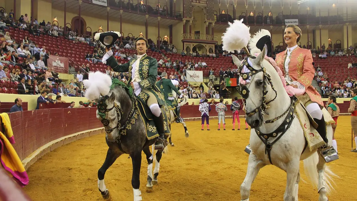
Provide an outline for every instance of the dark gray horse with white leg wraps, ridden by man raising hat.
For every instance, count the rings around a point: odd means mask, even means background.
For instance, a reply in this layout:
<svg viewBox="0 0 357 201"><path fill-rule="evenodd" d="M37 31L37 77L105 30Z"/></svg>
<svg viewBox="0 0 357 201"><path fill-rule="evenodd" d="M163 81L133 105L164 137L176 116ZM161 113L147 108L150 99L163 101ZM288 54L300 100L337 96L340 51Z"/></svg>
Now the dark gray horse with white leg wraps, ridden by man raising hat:
<svg viewBox="0 0 357 201"><path fill-rule="evenodd" d="M103 93L102 93L103 94ZM147 188L152 188L157 183L159 175L160 159L163 150L156 152L156 163L154 176L152 175L153 155L149 146L154 144L156 139L148 140L146 137L146 127L143 117L139 114L137 101L131 99L127 91L122 86L115 86L105 96L96 99L98 103L97 118L101 120L106 130L106 143L109 146L104 164L98 170L98 188L104 199L110 198L109 190L104 183L104 175L107 169L122 154L129 154L132 160L132 179L131 184L134 191L134 201L142 200L140 187L140 167L141 151L144 151L148 162ZM182 105L185 102L182 102ZM164 109L162 109L164 112ZM175 120L174 112L170 110L170 122ZM134 122L134 124L133 124ZM188 137L188 131L184 122L185 136ZM130 125L130 129L128 128ZM171 125L169 125L171 130ZM125 134L123 134L125 130ZM167 135L165 138L167 139ZM171 135L170 135L171 137ZM172 144L172 142L170 143Z"/></svg>

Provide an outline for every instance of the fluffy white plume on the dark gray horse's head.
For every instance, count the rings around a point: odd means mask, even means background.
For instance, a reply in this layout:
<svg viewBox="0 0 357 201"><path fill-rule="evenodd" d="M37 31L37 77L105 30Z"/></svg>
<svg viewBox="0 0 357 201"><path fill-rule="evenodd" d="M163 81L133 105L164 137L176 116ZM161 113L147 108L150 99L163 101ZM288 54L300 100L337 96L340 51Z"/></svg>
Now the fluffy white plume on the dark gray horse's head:
<svg viewBox="0 0 357 201"><path fill-rule="evenodd" d="M109 75L100 71L90 72L88 80L83 80L84 86L87 88L85 97L89 100L95 100L100 95L107 95L112 84Z"/></svg>

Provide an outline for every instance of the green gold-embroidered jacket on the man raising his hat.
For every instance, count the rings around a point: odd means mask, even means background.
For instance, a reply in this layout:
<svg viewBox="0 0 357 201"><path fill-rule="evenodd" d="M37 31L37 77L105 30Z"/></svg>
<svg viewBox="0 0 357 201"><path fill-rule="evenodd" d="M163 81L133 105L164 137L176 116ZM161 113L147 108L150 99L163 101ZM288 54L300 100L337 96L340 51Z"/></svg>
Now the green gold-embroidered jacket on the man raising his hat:
<svg viewBox="0 0 357 201"><path fill-rule="evenodd" d="M128 80L128 85L130 85L131 76L133 73L132 65L136 60L137 58L133 58L130 59L129 62L119 65L118 62L116 62L114 56L110 56L109 59L107 59L107 64L115 72L128 72L130 77L130 79ZM149 99L149 95L145 93L145 90L148 90L155 95L159 105L164 105L165 97L161 93L159 87L155 85L157 79L157 60L153 57L147 56L147 54L143 56L140 59L140 63L139 63L139 75L140 75L141 82L138 83L139 86L141 87L141 92L136 98L139 98L139 100L141 99L140 100L141 102L146 103L147 99Z"/></svg>

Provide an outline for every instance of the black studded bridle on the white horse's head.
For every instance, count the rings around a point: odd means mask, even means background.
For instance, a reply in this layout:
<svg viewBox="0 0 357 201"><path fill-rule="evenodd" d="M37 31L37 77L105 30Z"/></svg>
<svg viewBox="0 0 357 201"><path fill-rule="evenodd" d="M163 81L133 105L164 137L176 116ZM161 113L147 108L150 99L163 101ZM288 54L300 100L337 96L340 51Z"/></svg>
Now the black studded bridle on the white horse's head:
<svg viewBox="0 0 357 201"><path fill-rule="evenodd" d="M242 79L244 81L250 79L252 76L258 74L259 72L263 72L263 101L262 101L262 104L258 107L256 107L254 110L250 111L250 112L247 112L246 110L246 103L245 101L243 101L243 104L244 104L244 111L246 113L247 116L253 116L254 114L256 114L257 112L260 112L260 116L261 118L263 119L263 115L266 113L268 114L268 112L266 112L266 109L269 109L269 106L268 104L272 101L274 101L277 97L277 92L272 84L272 81L271 81L271 77L269 74L267 74L266 72L266 69L265 67L263 67L261 65L261 69L259 70L256 70L253 68L253 66L251 66L248 62L248 58L252 58L252 59L256 59L256 57L254 56L250 56L250 57L246 57L243 62L241 63L240 67L239 67L239 71L238 71L238 75L242 77ZM250 72L245 72L245 73L242 73L242 69L243 67L246 66ZM253 80L253 79L252 79ZM251 83L251 82L250 82ZM266 100L266 94L268 93L266 87L267 87L267 84L271 85L272 86L272 89L273 91L275 92L275 97L274 99L270 100L267 102ZM237 87L237 90L238 92L241 94L243 100L246 100L248 99L249 97L249 89L248 87L246 87L245 85L242 85L241 83L239 84L239 87Z"/></svg>

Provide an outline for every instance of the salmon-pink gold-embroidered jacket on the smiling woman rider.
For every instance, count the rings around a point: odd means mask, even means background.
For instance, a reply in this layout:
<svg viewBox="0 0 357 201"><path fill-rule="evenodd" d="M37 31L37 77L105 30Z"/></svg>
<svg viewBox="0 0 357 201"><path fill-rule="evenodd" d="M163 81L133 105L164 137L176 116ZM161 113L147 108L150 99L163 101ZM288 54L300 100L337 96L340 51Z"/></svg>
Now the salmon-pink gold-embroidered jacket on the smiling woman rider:
<svg viewBox="0 0 357 201"><path fill-rule="evenodd" d="M276 55L275 61L280 70L285 76L284 62L286 59L287 50L280 52ZM312 79L315 75L315 69L312 65L312 55L310 50L296 47L291 52L291 58L289 63L289 76L293 81L298 81L305 86L305 93L310 97L312 102L323 107L321 95L311 85Z"/></svg>

